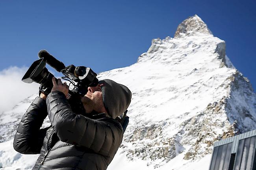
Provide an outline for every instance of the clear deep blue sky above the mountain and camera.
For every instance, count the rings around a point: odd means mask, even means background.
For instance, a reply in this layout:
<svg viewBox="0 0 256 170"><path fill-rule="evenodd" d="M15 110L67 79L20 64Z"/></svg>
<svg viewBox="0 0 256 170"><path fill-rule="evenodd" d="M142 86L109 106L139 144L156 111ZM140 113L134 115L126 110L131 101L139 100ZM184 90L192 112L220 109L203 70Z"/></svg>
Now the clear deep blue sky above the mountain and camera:
<svg viewBox="0 0 256 170"><path fill-rule="evenodd" d="M256 1L44 0L0 2L0 71L29 67L46 49L95 72L137 61L153 38L173 37L197 14L226 41L226 54L256 89Z"/></svg>

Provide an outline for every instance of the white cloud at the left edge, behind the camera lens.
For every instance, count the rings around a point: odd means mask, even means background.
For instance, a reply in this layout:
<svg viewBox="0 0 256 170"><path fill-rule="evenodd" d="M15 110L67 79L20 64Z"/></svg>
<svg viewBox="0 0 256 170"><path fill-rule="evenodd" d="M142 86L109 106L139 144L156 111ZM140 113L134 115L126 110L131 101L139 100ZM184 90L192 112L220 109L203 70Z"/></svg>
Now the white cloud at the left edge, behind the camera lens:
<svg viewBox="0 0 256 170"><path fill-rule="evenodd" d="M38 93L38 83L24 83L21 81L28 67L9 67L0 71L0 114L12 109L17 103L32 94Z"/></svg>

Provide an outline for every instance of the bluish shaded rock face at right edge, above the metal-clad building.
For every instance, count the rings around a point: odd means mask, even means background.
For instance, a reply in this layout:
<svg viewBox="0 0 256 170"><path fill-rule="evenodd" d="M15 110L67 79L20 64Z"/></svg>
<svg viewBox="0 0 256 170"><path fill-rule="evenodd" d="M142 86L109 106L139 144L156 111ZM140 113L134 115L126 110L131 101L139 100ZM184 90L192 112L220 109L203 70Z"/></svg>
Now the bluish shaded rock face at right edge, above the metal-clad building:
<svg viewBox="0 0 256 170"><path fill-rule="evenodd" d="M230 97L226 101L228 119L230 123L236 122L236 130L239 133L254 130L256 125L256 94L253 92L252 85L238 71L229 79L231 80Z"/></svg>

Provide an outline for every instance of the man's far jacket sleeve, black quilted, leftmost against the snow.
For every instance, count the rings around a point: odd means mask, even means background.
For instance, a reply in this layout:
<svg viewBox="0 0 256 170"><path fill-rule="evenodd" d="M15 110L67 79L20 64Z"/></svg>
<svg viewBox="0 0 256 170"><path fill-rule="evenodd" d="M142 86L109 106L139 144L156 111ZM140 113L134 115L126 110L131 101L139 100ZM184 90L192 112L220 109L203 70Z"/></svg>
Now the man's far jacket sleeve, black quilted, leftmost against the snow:
<svg viewBox="0 0 256 170"><path fill-rule="evenodd" d="M47 128L40 129L47 116L46 101L35 98L22 117L13 141L13 148L22 154L39 154Z"/></svg>

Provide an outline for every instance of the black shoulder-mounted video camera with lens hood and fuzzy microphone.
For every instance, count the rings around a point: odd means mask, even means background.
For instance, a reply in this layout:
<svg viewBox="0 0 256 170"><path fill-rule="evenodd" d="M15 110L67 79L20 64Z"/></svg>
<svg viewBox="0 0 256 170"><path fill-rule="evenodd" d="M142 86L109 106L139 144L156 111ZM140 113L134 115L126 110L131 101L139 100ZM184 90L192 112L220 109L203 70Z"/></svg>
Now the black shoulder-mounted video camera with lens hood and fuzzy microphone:
<svg viewBox="0 0 256 170"><path fill-rule="evenodd" d="M38 56L40 59L32 63L23 76L22 81L25 83L32 83L34 81L39 83L39 90L48 95L52 90L52 78L54 77L54 75L45 67L46 63L48 63L48 65L53 67L56 71L64 74L65 77L61 77L62 79L72 83L74 88L69 90L67 100L73 112L84 115L85 109L81 102L81 98L87 93L88 87L95 87L98 85L98 79L96 78L97 74L93 72L90 67L75 67L74 65L65 67L61 61L54 58L54 56L50 55L45 50L39 51ZM56 82L58 82L57 79ZM121 123L123 131L125 131L129 122L129 117L126 116L126 112L116 118Z"/></svg>

